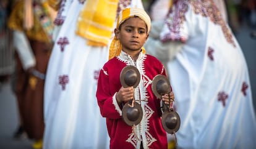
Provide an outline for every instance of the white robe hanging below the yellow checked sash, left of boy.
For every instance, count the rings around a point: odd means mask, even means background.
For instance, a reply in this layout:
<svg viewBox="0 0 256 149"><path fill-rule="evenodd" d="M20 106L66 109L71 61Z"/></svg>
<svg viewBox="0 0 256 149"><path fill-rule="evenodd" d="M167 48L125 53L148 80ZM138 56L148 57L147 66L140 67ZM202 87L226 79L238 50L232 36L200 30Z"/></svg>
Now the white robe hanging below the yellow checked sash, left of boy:
<svg viewBox="0 0 256 149"><path fill-rule="evenodd" d="M131 6L143 7L140 0ZM67 1L66 19L55 34L45 82L43 148L109 148L106 120L96 100L98 73L108 60L108 47L88 46L75 34L82 9L79 1ZM68 43L61 48L65 37Z"/></svg>

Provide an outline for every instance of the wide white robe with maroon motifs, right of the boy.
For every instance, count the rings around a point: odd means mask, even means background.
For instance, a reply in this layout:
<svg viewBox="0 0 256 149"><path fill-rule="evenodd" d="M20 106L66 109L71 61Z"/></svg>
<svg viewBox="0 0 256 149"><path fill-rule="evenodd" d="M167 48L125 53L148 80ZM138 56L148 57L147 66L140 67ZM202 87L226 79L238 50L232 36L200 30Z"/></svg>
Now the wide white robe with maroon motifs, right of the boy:
<svg viewBox="0 0 256 149"><path fill-rule="evenodd" d="M210 20L220 12L207 12L210 9L200 4L198 0L174 4L160 31L159 38L165 42L152 38L145 46L157 43L161 48L155 46L148 52L155 50L153 54L160 59L161 55L173 57L167 60L167 68L174 108L181 117L178 148L256 148L255 112L244 54L223 18L213 19L215 23ZM184 41L179 50L168 46L176 40Z"/></svg>

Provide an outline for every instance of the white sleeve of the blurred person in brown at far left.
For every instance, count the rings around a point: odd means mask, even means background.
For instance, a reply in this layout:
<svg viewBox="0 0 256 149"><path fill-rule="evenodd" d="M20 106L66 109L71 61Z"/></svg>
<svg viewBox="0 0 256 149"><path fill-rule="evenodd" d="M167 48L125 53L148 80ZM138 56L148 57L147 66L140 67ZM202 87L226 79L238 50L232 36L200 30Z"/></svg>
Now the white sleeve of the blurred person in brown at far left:
<svg viewBox="0 0 256 149"><path fill-rule="evenodd" d="M33 54L33 50L28 42L27 37L22 31L14 31L14 47L19 54L24 70L35 66L35 55Z"/></svg>

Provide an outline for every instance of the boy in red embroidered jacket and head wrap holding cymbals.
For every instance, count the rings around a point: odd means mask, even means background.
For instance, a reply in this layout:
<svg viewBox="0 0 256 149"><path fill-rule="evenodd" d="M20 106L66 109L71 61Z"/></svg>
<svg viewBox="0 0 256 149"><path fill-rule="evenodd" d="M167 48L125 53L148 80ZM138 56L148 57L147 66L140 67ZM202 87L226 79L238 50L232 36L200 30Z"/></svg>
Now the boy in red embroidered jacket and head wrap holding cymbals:
<svg viewBox="0 0 256 149"><path fill-rule="evenodd" d="M143 44L149 31L150 17L143 9L124 9L114 30L110 60L100 71L96 97L101 115L106 118L111 149L167 148L166 132L161 124L161 100L151 90L153 78L157 74L166 76L166 71L159 60L145 54ZM121 86L119 76L127 65L136 66L140 72L140 83L135 88ZM173 92L169 95L173 102ZM169 104L168 94L162 98ZM142 107L142 121L137 126L129 126L122 119L123 105L130 99Z"/></svg>

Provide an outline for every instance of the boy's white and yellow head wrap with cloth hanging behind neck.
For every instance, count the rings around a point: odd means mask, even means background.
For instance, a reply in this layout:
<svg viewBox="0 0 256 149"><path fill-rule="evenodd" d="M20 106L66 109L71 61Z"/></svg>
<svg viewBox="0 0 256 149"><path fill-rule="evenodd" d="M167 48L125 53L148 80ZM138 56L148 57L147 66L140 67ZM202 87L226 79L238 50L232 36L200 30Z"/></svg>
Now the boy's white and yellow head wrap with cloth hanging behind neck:
<svg viewBox="0 0 256 149"><path fill-rule="evenodd" d="M127 8L122 10L121 14L117 18L117 24L116 24L116 29L119 28L119 26L128 18L137 16L141 18L147 25L147 34L150 31L151 27L151 20L150 17L148 16L147 12L145 10L140 9L140 8ZM110 48L109 48L109 59L116 57L121 53L122 50L122 45L119 41L119 39L116 39L116 36L114 36L113 41L111 42ZM144 47L142 47L143 53L145 53Z"/></svg>

